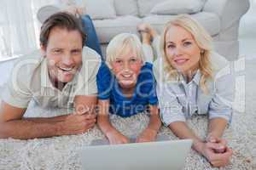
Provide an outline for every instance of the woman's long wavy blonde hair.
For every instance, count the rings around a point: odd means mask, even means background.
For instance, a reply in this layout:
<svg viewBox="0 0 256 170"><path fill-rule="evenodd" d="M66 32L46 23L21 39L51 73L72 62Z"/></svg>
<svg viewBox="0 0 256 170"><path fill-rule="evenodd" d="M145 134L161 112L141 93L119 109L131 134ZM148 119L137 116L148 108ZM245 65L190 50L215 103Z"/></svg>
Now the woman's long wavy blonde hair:
<svg viewBox="0 0 256 170"><path fill-rule="evenodd" d="M199 60L199 70L201 71L200 86L202 91L207 94L208 89L206 82L208 78L212 78L212 64L209 55L212 51L212 37L203 26L196 20L192 19L188 14L178 15L174 20L169 21L160 37L160 53L164 58L164 71L168 73L169 78L177 80L178 72L172 67L166 55L166 33L172 26L179 26L189 31L194 37L196 44L201 49L201 57Z"/></svg>

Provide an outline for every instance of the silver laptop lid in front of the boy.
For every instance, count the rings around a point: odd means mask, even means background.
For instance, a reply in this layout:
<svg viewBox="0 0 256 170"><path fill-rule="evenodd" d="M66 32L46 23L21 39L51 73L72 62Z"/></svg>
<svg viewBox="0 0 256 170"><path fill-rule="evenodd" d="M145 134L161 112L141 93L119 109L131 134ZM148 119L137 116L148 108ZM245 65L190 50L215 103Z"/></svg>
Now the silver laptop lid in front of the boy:
<svg viewBox="0 0 256 170"><path fill-rule="evenodd" d="M181 170L191 139L101 144L79 150L83 170Z"/></svg>

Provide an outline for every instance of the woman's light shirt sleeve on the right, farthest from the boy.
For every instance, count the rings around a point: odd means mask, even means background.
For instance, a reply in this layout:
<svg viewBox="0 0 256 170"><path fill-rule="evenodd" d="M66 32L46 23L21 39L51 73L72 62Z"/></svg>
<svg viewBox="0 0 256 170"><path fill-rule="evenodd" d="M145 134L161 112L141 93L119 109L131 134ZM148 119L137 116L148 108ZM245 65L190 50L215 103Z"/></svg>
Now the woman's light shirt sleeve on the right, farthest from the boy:
<svg viewBox="0 0 256 170"><path fill-rule="evenodd" d="M209 119L221 117L230 123L235 96L235 77L230 65L218 71L214 78L214 86L215 94L209 105Z"/></svg>

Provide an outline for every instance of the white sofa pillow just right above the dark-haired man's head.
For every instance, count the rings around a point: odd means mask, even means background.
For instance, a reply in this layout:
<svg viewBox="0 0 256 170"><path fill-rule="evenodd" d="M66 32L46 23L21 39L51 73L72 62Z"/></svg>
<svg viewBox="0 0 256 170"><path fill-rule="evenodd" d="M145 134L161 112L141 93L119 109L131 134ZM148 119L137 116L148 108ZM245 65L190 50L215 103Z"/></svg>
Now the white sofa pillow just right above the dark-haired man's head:
<svg viewBox="0 0 256 170"><path fill-rule="evenodd" d="M86 0L85 7L92 20L116 18L113 0Z"/></svg>

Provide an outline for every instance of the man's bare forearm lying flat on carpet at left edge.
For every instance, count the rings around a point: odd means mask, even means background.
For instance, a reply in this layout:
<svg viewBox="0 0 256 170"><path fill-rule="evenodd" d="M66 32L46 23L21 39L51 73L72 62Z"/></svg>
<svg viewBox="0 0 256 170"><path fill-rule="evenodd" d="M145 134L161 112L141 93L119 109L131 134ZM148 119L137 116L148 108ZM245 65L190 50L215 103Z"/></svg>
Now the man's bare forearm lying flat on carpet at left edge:
<svg viewBox="0 0 256 170"><path fill-rule="evenodd" d="M1 122L0 138L35 139L61 135L61 122L15 120Z"/></svg>

